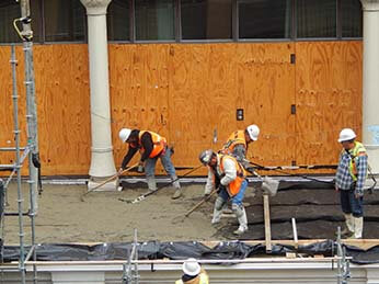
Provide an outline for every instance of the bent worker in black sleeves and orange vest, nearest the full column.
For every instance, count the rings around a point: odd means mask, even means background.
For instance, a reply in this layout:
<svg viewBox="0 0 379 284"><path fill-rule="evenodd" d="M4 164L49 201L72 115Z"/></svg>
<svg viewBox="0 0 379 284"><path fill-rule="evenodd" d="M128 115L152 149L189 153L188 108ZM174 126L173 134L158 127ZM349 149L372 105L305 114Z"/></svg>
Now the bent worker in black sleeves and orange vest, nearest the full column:
<svg viewBox="0 0 379 284"><path fill-rule="evenodd" d="M123 128L119 130L119 138L123 143L129 144L129 149L124 157L118 173L126 168L130 159L134 157L137 150L139 150L141 158L138 163L137 171L140 173L143 172L145 167L146 180L149 190L157 190L154 171L157 160L160 158L165 172L170 175L172 184L175 188L172 198L175 200L182 195L181 184L177 180L175 168L171 161L172 149L168 147L164 137L153 132Z"/></svg>

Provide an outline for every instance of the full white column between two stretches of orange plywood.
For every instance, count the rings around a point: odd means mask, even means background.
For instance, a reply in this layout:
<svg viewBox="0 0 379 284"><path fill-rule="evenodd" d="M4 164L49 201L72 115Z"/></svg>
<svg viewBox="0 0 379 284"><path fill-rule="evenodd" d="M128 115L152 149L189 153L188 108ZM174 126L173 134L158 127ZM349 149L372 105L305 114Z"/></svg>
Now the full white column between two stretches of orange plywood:
<svg viewBox="0 0 379 284"><path fill-rule="evenodd" d="M114 175L110 110L108 53L106 37L106 9L112 0L80 0L87 8L88 46L91 88L91 180L89 190L104 179ZM116 190L113 181L102 190Z"/></svg>

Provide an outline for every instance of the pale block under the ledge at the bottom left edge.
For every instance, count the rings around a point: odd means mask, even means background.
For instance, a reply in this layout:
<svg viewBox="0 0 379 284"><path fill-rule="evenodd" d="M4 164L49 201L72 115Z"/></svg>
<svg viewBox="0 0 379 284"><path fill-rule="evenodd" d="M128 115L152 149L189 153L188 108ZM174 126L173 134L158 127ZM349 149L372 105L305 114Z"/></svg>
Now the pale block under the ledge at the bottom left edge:
<svg viewBox="0 0 379 284"><path fill-rule="evenodd" d="M104 284L105 272L55 271L51 281L53 284Z"/></svg>

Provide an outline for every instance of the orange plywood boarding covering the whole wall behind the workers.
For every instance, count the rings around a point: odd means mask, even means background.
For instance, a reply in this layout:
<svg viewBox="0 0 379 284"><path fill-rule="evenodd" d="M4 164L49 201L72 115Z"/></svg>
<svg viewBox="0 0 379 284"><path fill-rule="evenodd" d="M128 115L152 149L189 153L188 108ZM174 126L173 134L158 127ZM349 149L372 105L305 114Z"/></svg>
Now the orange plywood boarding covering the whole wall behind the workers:
<svg viewBox="0 0 379 284"><path fill-rule="evenodd" d="M110 44L116 167L122 127L150 129L175 146L175 166L197 166L236 129L254 123L248 158L265 166L335 163L342 127L361 134L361 42ZM290 55L296 54L296 64ZM13 143L10 47L0 46L0 147ZM18 88L25 143L23 52ZM88 174L91 151L88 46L34 46L43 174ZM291 114L291 105L297 113ZM244 120L237 121L237 109ZM214 143L214 133L217 141ZM1 163L12 160L0 152ZM135 158L137 160L137 157ZM184 171L183 171L184 172ZM205 174L205 169L194 174ZM164 173L161 166L158 173ZM272 173L271 173L272 174Z"/></svg>

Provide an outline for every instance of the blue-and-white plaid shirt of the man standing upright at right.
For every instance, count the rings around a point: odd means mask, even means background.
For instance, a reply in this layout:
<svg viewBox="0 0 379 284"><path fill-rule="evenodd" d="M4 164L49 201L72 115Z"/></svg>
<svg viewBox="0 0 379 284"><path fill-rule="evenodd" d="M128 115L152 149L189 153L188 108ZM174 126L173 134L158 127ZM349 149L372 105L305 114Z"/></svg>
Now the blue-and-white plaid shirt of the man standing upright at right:
<svg viewBox="0 0 379 284"><path fill-rule="evenodd" d="M353 150L349 150L349 152L352 151ZM352 155L347 151L343 151L340 155L338 168L335 174L335 184L340 190L349 190L354 182L349 172L351 159ZM357 156L355 158L355 163L357 168L357 183L355 185L355 192L359 195L363 195L368 168L367 156Z"/></svg>

